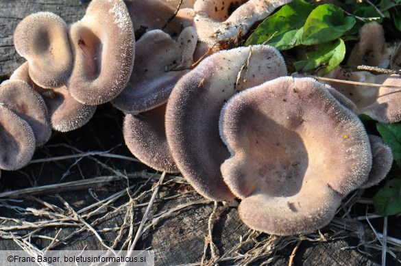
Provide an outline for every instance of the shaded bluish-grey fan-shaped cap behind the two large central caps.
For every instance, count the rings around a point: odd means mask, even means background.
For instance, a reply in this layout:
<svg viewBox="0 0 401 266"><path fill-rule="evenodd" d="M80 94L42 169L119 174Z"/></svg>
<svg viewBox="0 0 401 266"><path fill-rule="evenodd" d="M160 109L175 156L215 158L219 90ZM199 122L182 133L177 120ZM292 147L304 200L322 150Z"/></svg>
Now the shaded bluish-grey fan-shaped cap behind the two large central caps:
<svg viewBox="0 0 401 266"><path fill-rule="evenodd" d="M184 29L177 42L160 29L147 32L136 42L130 83L112 101L114 107L138 114L167 102L175 83L191 70L196 42L193 27Z"/></svg>

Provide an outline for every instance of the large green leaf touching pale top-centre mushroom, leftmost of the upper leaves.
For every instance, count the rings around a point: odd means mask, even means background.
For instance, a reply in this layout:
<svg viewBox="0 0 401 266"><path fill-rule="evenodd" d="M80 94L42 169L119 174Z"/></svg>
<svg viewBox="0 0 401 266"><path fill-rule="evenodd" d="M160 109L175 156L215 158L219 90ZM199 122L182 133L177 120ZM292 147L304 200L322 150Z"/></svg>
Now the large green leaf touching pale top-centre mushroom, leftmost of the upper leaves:
<svg viewBox="0 0 401 266"><path fill-rule="evenodd" d="M302 27L316 5L294 0L260 23L245 45L269 44L282 51L300 45Z"/></svg>

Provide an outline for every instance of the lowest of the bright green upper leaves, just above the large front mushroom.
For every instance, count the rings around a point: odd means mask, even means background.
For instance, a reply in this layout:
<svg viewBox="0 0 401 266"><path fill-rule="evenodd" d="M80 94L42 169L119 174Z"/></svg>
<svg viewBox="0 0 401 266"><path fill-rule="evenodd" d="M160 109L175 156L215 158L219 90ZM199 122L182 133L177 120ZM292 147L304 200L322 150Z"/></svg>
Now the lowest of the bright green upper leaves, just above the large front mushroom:
<svg viewBox="0 0 401 266"><path fill-rule="evenodd" d="M317 75L325 75L335 69L345 57L345 44L339 39L314 46L313 51L306 53L307 60L295 62L297 71L306 72L317 69Z"/></svg>

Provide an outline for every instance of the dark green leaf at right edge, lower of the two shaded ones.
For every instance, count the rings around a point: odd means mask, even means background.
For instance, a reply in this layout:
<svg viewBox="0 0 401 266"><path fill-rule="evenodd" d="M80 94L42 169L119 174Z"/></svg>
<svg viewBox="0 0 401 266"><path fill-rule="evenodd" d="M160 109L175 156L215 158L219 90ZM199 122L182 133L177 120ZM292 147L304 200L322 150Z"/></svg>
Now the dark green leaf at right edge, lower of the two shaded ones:
<svg viewBox="0 0 401 266"><path fill-rule="evenodd" d="M378 215L401 213L401 178L388 181L373 197L373 204Z"/></svg>

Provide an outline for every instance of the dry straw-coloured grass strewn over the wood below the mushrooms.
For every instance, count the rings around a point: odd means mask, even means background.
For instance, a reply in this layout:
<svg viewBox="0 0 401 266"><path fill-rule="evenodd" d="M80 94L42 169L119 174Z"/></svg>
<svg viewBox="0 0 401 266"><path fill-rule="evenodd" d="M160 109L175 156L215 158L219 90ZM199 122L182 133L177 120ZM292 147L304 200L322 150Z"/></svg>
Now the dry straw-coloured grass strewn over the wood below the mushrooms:
<svg viewBox="0 0 401 266"><path fill-rule="evenodd" d="M109 152L81 152L79 155L67 155L64 157L54 157L47 159L36 159L32 163L50 163L62 159L71 159L82 161L82 157L112 157L114 159L127 159L123 156L112 155ZM97 160L95 158L95 160ZM75 162L74 162L75 163ZM100 162L99 162L100 163ZM104 163L101 167L110 168ZM95 236L96 241L104 249L114 250L119 247L125 250L134 250L141 236L158 222L167 220L174 213L186 211L197 204L210 204L212 212L208 220L204 222L208 226L204 241L204 256L199 258L199 262L188 265L216 265L229 261L236 265L249 265L263 259L263 264L268 265L276 259L276 252L286 247L292 247L293 252L289 256L289 265L292 265L293 258L304 241L330 241L341 239L343 237L357 237L359 245L356 249L367 252L372 250L382 250L383 254L390 254L397 261L401 262L396 254L401 252L401 240L392 237L386 237L387 223L383 228L383 233L377 232L369 222L372 219L386 219L374 213L366 213L361 216L350 215L351 210L356 204L371 204L371 200L361 198L361 191L356 191L348 198L339 209L339 213L330 225L326 228L324 235L321 232L313 232L307 235L297 237L276 237L262 234L254 230L249 230L243 235L234 247L219 254L219 249L214 243L213 228L219 221L220 214L228 208L221 206L218 202L211 200L192 200L184 204L177 204L168 209L162 209L158 212L151 212L155 202L171 200L172 198L186 197L194 193L187 191L183 194L176 193L167 198L158 197L160 187L171 183L186 184L184 178L180 176L170 176L165 173L149 173L146 171L124 173L118 169L109 169L114 175L99 176L97 178L83 179L66 183L45 185L39 187L30 187L15 191L6 191L0 194L0 207L19 213L18 217L0 217L1 230L0 237L3 239L12 239L16 245L19 245L28 254L42 254L45 250L56 247L60 243L68 244L71 239L82 232L89 232ZM130 185L136 181L134 185ZM126 184L123 189L110 194L106 198L98 199L95 203L87 204L80 209L75 209L72 204L67 202L61 194L66 191L88 190L104 187L104 185L113 182ZM150 187L150 189L149 189ZM56 200L47 202L39 198L42 195L55 196ZM42 208L20 207L19 202L23 199L29 199L37 202ZM121 202L123 204L116 204ZM56 204L56 202L58 202ZM141 202L141 203L138 203ZM145 212L138 212L138 209L145 209ZM112 210L112 211L110 211ZM107 220L115 213L125 213L123 223L110 228L98 228L99 224ZM140 222L134 219L138 213L143 213ZM93 217L96 217L93 219ZM28 221L34 222L28 222ZM366 224L370 226L367 227ZM74 228L73 233L61 237L64 228ZM46 232L47 228L59 228L56 235L51 237ZM104 232L114 231L117 237L111 244L106 243L102 238ZM49 245L45 248L38 248L32 239L48 239ZM149 247L151 248L151 247ZM385 256L383 256L385 260ZM157 261L157 258L156 258Z"/></svg>

